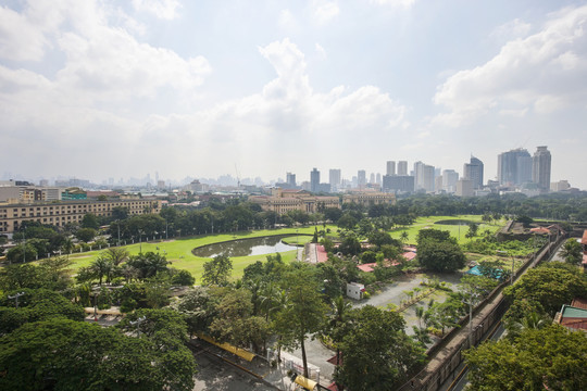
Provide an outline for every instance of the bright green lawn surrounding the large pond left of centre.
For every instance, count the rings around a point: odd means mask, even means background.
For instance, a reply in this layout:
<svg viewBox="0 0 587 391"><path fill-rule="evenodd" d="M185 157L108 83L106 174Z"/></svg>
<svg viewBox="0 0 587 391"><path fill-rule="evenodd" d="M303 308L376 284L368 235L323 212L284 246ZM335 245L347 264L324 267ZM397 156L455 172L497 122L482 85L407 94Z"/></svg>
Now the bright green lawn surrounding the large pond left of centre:
<svg viewBox="0 0 587 391"><path fill-rule="evenodd" d="M326 226L330 230L336 230L335 226ZM322 227L319 227L319 229ZM165 254L168 261L171 261L172 266L178 269L186 269L190 272L197 279L200 280L203 270L203 264L207 261L210 261L208 257L199 257L191 253L197 247L230 241L235 239L249 239L258 238L264 236L273 235L289 235L292 234L288 239L295 243L296 234L299 234L298 238L300 243L303 243L308 240L311 240L311 236L314 234L314 226L303 227L303 228L280 228L280 229L264 229L264 230L253 230L253 231L241 231L235 232L234 235L218 234L218 235L209 235L209 236L198 236L189 237L182 239L174 239L168 241L152 241L143 242L142 244L135 243L125 245L124 248L132 254L138 254L140 248L142 247L142 252L153 251L161 252ZM307 239L309 238L309 239ZM100 254L101 251L89 251L82 254L70 255L70 260L74 261L73 269L76 270L80 267L88 266L96 257ZM296 258L296 251L287 251L282 253L282 256L285 262L291 262ZM235 256L230 260L233 261L233 278L239 278L242 276L242 270L248 265L257 261L265 261L266 255L250 255L250 256Z"/></svg>

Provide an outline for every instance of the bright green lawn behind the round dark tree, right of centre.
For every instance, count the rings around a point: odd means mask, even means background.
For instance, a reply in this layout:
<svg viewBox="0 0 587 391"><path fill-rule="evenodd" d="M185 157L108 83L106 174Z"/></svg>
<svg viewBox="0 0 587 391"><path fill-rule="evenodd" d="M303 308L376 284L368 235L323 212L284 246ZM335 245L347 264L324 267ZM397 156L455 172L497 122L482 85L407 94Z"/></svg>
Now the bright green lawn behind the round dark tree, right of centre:
<svg viewBox="0 0 587 391"><path fill-rule="evenodd" d="M501 222L497 222L496 224L486 224L482 222L480 215L460 215L460 216L433 216L433 217L419 217L416 222L407 228L396 228L392 229L389 234L391 234L391 237L395 239L400 239L400 236L403 231L408 232L408 243L415 244L417 232L421 229L425 228L434 228L434 229L440 229L440 230L448 230L450 231L450 235L459 241L459 244L464 244L471 239L465 238L466 232L469 231L469 227L466 225L444 225L444 224L435 224L436 222L440 220L450 220L450 219L465 219L471 220L475 223L479 223L478 234L480 235L486 229L489 229L491 232L496 232L499 230L503 224Z"/></svg>

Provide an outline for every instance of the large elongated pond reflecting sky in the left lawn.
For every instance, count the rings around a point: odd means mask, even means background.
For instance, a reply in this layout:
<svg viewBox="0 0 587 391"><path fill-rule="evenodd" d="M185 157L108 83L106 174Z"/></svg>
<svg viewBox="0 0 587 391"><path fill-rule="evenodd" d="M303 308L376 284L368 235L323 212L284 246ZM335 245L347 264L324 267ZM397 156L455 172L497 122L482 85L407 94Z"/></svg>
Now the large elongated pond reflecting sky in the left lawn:
<svg viewBox="0 0 587 391"><path fill-rule="evenodd" d="M191 250L191 252L196 256L214 257L222 254L228 256L248 256L274 254L277 252L296 250L297 247L285 244L284 242L282 242L282 239L287 237L291 237L291 234L283 236L230 240L223 243L202 245Z"/></svg>

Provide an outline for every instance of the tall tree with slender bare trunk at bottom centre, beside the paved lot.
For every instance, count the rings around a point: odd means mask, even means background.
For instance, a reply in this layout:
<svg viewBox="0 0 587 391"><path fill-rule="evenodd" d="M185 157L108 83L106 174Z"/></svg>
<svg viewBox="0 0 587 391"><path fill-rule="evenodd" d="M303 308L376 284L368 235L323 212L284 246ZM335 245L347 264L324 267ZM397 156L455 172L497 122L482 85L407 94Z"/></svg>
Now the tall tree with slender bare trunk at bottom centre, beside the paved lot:
<svg viewBox="0 0 587 391"><path fill-rule="evenodd" d="M277 314L275 327L285 346L301 348L303 376L309 377L304 341L308 335L320 330L326 305L314 269L310 266L302 265L289 272L282 285L287 291L287 305Z"/></svg>

